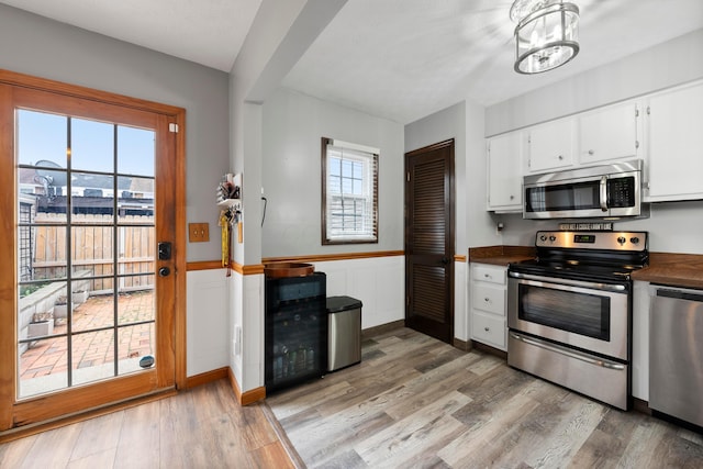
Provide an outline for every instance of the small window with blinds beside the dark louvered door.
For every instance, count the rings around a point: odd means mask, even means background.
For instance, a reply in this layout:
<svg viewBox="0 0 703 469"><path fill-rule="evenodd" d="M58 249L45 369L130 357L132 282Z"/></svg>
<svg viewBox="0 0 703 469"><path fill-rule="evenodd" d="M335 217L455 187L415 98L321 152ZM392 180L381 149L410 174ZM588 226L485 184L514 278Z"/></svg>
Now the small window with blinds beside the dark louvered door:
<svg viewBox="0 0 703 469"><path fill-rule="evenodd" d="M378 155L322 138L322 244L378 243Z"/></svg>

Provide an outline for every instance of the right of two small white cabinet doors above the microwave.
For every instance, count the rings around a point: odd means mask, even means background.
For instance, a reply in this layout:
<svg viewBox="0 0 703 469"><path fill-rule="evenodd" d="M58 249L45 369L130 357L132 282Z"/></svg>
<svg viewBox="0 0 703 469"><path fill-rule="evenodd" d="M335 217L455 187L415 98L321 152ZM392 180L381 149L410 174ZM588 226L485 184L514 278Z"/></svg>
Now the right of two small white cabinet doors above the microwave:
<svg viewBox="0 0 703 469"><path fill-rule="evenodd" d="M599 109L579 116L579 163L637 157L636 102Z"/></svg>

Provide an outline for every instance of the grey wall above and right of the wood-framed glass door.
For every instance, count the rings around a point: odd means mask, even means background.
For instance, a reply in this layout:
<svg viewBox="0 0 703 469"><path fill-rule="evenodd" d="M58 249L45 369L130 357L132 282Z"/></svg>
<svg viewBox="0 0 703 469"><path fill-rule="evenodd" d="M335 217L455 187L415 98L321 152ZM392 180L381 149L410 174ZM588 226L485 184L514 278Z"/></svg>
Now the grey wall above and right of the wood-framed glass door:
<svg viewBox="0 0 703 469"><path fill-rule="evenodd" d="M188 222L217 226L213 187L227 169L227 74L0 4L0 67L186 109ZM219 258L220 241L188 245Z"/></svg>

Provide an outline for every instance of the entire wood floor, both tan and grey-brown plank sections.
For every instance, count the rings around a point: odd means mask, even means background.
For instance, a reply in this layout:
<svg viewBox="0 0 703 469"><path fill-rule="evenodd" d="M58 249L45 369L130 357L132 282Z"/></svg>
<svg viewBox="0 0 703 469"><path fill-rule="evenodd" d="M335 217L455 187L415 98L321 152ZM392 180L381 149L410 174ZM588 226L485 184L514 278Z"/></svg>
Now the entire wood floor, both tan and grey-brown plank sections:
<svg viewBox="0 0 703 469"><path fill-rule="evenodd" d="M3 469L305 466L701 468L703 435L399 328L266 403L221 380L0 445Z"/></svg>

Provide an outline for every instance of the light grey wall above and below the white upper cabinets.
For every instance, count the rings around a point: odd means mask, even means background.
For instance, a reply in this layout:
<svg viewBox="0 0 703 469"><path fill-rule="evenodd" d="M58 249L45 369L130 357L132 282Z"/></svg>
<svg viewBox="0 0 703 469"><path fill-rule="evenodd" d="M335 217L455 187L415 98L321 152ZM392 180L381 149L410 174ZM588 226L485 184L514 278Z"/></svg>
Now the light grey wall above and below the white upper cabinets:
<svg viewBox="0 0 703 469"><path fill-rule="evenodd" d="M703 78L703 30L634 54L486 110L486 135L494 135ZM578 60L578 58L577 58ZM647 150L644 148L645 152ZM685 168L682 168L685 170ZM502 244L534 245L537 230L554 221L494 215L505 224ZM703 254L703 201L656 203L650 217L615 222L616 230L648 231L649 249Z"/></svg>

